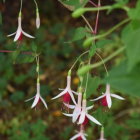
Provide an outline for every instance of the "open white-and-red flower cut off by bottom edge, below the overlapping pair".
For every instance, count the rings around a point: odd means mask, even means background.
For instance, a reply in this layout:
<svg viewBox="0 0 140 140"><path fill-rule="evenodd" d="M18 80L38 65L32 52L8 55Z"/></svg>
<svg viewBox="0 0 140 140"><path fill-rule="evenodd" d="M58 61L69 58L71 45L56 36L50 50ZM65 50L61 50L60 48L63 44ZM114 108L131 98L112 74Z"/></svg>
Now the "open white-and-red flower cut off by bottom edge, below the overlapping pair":
<svg viewBox="0 0 140 140"><path fill-rule="evenodd" d="M77 132L77 134L76 135L74 135L72 138L70 138L70 140L86 140L86 136L87 136L87 134L86 133L84 133L84 128L83 128L83 126L81 125L80 126L80 131L79 132Z"/></svg>

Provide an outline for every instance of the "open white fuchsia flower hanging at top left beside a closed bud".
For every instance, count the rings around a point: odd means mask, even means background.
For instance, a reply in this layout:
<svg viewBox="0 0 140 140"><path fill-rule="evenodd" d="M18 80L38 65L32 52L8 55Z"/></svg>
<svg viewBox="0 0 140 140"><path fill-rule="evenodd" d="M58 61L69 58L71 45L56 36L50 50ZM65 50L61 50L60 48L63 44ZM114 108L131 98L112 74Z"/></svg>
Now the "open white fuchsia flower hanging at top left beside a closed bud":
<svg viewBox="0 0 140 140"><path fill-rule="evenodd" d="M29 38L34 38L33 36L27 34L26 32L24 32L22 30L21 13L19 14L19 17L18 17L18 29L17 29L17 31L15 33L12 33L12 34L8 35L8 37L13 36L13 35L15 35L14 42L16 42L17 40L20 41L22 39L22 35L25 35Z"/></svg>

